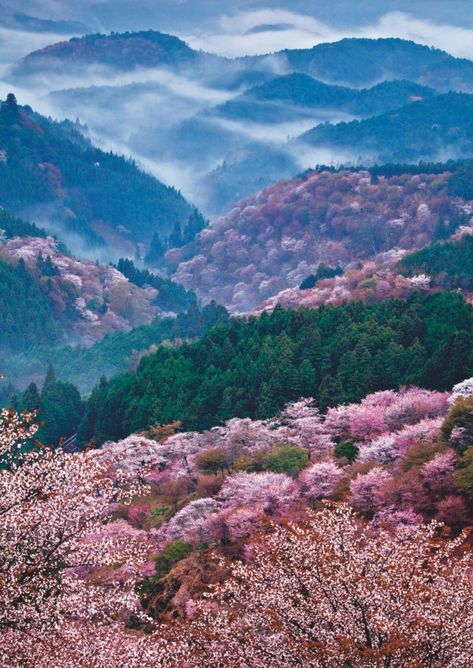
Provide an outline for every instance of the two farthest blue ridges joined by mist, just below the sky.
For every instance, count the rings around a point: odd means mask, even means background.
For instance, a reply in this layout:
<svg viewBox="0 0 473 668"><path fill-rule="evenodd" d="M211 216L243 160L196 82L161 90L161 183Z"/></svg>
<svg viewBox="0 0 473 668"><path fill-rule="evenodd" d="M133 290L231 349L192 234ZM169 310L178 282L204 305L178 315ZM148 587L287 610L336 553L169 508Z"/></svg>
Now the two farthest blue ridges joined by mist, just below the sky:
<svg viewBox="0 0 473 668"><path fill-rule="evenodd" d="M299 72L327 83L361 88L380 81L407 79L436 90L473 90L473 62L445 51L396 38L342 39L312 49L286 49L268 56L234 59L191 49L177 37L153 30L87 35L60 42L26 56L14 68L15 76L35 71L105 65L120 70L136 67L171 68L197 60L234 76L235 70L273 71L275 61L287 73Z"/></svg>

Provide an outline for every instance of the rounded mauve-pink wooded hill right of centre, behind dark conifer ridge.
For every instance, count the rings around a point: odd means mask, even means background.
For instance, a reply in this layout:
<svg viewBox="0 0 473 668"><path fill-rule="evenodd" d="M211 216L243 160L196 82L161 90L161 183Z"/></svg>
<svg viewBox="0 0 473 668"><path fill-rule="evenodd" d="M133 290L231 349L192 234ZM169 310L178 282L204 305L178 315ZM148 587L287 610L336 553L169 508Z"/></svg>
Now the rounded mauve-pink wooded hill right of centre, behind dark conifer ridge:
<svg viewBox="0 0 473 668"><path fill-rule="evenodd" d="M320 263L344 268L394 247L421 248L447 228L452 234L468 220L465 201L449 194L455 168L387 166L386 176L382 168L379 176L321 168L281 181L200 233L190 254L185 246L168 251L168 265L202 298L252 310Z"/></svg>

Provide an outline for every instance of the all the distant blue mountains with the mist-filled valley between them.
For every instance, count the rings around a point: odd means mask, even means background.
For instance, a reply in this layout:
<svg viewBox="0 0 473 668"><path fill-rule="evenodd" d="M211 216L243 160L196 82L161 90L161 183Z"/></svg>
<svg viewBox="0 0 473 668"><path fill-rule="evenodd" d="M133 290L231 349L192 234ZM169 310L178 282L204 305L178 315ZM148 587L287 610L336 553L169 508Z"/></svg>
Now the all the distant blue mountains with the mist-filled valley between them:
<svg viewBox="0 0 473 668"><path fill-rule="evenodd" d="M211 217L315 164L448 159L469 150L451 133L430 141L417 130L424 109L435 116L444 104L436 96L473 91L473 62L401 39L229 59L156 31L95 34L31 53L9 79L49 90L58 116L78 117L93 136L148 161ZM417 104L424 106L415 111ZM404 111L396 125L397 109ZM350 121L361 125L337 125ZM400 133L397 152L384 140L372 149L386 123Z"/></svg>

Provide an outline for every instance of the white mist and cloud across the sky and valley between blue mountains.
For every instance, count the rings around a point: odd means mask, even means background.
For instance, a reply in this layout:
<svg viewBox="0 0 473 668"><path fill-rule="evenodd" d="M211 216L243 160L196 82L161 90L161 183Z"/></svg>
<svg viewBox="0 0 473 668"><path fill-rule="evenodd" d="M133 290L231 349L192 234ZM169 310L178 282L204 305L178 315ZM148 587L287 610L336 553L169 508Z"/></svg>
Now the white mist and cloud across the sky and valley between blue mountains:
<svg viewBox="0 0 473 668"><path fill-rule="evenodd" d="M268 54L258 63L261 81L266 81L290 72L285 57L274 52L313 47L347 36L403 37L473 57L473 26L461 25L458 20L462 4L451 3L449 17L445 12L432 12L432 3L419 2L413 8L412 3L401 1L383 3L382 8L379 2L354 8L348 2L320 2L314 7L314 3L301 0L292 2L288 10L283 2L269 7L264 2L244 0L226 3L224 9L212 1L103 0L79 6L51 0L11 3L10 9L50 21L81 21L89 30L124 29L125 22L129 29L167 30L194 49L225 57ZM133 20L132 7L136 14ZM123 25L119 26L120 21ZM141 25L137 21L142 21ZM44 115L78 119L95 145L134 159L144 171L180 190L211 220L229 210L238 198L280 178L320 163L359 162L356 151L318 149L296 141L320 123L356 118L342 110L311 110L278 101L271 107L278 112L277 120L271 120L269 114L261 122L244 115L225 116L221 106L254 85L244 76L240 83L233 81L232 77L238 80L248 71L244 59L209 61L198 68L181 64L126 71L99 64L66 65L43 68L28 79L17 75L15 62L69 35L12 29L0 22L0 37L0 97L12 91L21 104ZM370 160L369 155L364 158ZM38 222L62 235L81 256L96 258L100 254L99 249L83 247L77 235L66 238L47 212L41 212Z"/></svg>

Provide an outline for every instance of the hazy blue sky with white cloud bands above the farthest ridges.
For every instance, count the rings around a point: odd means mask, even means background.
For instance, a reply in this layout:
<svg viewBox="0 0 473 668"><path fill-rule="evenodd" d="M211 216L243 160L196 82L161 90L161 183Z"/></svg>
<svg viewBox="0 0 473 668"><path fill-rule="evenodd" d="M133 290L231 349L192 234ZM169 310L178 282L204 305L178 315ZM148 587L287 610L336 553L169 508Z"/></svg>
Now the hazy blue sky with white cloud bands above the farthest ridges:
<svg viewBox="0 0 473 668"><path fill-rule="evenodd" d="M52 24L32 25L18 14L81 22L87 31L161 29L226 55L308 47L344 36L399 36L473 58L472 0L5 0L3 63L64 39L64 24L55 32Z"/></svg>

